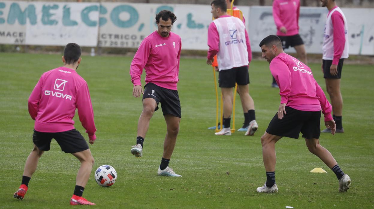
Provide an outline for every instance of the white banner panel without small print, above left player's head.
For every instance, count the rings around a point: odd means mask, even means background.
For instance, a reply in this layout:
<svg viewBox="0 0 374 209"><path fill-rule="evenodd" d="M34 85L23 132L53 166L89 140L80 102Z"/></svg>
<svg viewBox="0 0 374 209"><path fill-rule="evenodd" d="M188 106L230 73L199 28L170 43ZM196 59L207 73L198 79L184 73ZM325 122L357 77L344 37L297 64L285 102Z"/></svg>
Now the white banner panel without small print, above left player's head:
<svg viewBox="0 0 374 209"><path fill-rule="evenodd" d="M99 20L98 3L37 2L36 24L27 24L26 44L96 46Z"/></svg>

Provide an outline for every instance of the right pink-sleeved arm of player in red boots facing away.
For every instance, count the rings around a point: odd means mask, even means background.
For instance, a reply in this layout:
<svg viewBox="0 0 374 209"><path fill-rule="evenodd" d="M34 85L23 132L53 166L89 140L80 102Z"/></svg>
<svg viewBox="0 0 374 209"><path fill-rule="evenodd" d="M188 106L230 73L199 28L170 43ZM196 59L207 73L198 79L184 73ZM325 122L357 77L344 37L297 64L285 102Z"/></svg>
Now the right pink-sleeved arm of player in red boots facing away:
<svg viewBox="0 0 374 209"><path fill-rule="evenodd" d="M96 127L93 120L93 109L87 83L79 87L76 94L76 106L78 108L79 120L88 133L89 143L93 144L96 139Z"/></svg>

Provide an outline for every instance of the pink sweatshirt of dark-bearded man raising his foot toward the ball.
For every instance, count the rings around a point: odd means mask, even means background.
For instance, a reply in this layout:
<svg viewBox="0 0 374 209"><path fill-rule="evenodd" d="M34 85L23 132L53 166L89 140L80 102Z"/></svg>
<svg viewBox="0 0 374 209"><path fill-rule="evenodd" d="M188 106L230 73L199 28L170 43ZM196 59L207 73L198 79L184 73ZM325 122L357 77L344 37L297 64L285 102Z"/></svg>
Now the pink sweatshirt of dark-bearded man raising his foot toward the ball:
<svg viewBox="0 0 374 209"><path fill-rule="evenodd" d="M170 32L162 37L157 31L147 36L140 44L130 66L131 82L141 85L140 76L145 69L145 83L177 90L181 37Z"/></svg>

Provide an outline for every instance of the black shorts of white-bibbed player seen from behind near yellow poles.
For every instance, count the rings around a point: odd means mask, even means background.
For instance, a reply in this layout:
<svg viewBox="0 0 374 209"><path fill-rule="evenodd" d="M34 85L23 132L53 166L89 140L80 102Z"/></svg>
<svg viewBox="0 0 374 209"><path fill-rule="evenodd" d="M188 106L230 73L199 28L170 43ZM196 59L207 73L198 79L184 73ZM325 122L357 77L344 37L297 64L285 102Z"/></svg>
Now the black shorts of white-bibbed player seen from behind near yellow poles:
<svg viewBox="0 0 374 209"><path fill-rule="evenodd" d="M231 88L238 85L246 85L249 83L248 66L231 68L228 70L220 70L218 76L218 83L220 87Z"/></svg>

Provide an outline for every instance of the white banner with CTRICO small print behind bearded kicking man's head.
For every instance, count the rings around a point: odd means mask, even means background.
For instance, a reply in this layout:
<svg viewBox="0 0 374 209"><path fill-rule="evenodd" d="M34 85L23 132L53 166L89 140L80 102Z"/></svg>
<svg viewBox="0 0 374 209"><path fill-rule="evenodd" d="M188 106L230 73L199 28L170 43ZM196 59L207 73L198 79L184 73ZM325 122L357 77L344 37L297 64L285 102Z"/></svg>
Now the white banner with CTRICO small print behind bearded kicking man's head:
<svg viewBox="0 0 374 209"><path fill-rule="evenodd" d="M181 36L182 49L208 50L208 25L212 22L209 4L102 3L99 46L138 47L157 30L155 17L163 9L177 16L172 32ZM248 13L249 7L244 7L243 14Z"/></svg>

